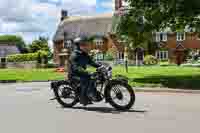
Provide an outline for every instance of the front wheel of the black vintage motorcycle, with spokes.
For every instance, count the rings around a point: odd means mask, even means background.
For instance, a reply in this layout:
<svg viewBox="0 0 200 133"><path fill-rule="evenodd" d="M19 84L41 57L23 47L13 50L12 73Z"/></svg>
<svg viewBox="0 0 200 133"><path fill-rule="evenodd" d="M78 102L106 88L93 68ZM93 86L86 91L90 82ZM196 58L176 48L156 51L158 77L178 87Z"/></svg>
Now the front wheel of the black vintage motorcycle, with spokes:
<svg viewBox="0 0 200 133"><path fill-rule="evenodd" d="M127 95L125 95L125 92ZM130 85L122 81L114 81L105 91L106 101L117 110L129 110L135 103L135 93ZM122 101L128 100L123 104Z"/></svg>

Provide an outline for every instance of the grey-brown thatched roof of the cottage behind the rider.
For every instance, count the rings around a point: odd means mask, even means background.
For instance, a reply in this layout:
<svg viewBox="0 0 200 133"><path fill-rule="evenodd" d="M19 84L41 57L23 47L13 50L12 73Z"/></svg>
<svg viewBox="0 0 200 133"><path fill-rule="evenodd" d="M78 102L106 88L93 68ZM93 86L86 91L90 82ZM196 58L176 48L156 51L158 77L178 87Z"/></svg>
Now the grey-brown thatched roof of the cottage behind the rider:
<svg viewBox="0 0 200 133"><path fill-rule="evenodd" d="M101 14L96 16L72 16L62 21L53 41L64 39L64 32L67 32L68 38L74 38L80 35L94 36L107 35L112 30L113 14Z"/></svg>

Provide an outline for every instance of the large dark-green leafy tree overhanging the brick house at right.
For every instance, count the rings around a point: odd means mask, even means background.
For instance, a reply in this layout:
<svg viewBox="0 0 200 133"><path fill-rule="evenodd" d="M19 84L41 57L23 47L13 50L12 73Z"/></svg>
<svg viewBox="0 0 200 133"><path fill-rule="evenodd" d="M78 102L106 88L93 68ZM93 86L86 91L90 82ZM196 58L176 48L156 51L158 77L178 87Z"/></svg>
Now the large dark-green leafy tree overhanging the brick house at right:
<svg viewBox="0 0 200 133"><path fill-rule="evenodd" d="M152 33L166 29L173 32L187 30L200 33L199 0L125 1L128 7L124 15L113 18L113 32L121 40L126 40L130 47L151 49Z"/></svg>

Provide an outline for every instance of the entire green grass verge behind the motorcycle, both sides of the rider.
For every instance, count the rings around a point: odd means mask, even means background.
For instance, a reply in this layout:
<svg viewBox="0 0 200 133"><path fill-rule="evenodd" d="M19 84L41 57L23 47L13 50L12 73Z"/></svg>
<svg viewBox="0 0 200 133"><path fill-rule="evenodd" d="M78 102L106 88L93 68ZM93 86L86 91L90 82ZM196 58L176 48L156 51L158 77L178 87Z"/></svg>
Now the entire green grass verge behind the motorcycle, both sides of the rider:
<svg viewBox="0 0 200 133"><path fill-rule="evenodd" d="M132 86L200 89L200 68L195 67L129 67L129 72L126 73L123 67L117 66L113 69L113 75L117 74L128 77ZM62 79L64 79L64 74L57 73L54 69L0 69L0 80L38 81Z"/></svg>

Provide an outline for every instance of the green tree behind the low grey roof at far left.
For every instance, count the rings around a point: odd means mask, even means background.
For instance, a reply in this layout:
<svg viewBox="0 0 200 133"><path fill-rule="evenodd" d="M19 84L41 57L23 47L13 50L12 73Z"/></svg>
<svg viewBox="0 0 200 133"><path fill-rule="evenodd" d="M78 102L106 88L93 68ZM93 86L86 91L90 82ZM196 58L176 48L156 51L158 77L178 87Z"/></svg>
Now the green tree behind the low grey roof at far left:
<svg viewBox="0 0 200 133"><path fill-rule="evenodd" d="M21 53L28 53L27 45L25 44L21 36L16 35L2 35L0 36L0 42L15 44Z"/></svg>

